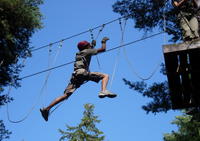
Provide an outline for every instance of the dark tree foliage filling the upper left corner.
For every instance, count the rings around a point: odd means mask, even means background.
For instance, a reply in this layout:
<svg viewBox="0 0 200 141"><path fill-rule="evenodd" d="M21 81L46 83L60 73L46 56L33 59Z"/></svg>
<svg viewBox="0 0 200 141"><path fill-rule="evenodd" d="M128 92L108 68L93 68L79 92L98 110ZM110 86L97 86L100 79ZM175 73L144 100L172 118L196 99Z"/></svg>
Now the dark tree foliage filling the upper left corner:
<svg viewBox="0 0 200 141"><path fill-rule="evenodd" d="M39 5L42 0L0 1L0 88L17 87L23 67L20 59L30 56L30 37L41 28Z"/></svg>

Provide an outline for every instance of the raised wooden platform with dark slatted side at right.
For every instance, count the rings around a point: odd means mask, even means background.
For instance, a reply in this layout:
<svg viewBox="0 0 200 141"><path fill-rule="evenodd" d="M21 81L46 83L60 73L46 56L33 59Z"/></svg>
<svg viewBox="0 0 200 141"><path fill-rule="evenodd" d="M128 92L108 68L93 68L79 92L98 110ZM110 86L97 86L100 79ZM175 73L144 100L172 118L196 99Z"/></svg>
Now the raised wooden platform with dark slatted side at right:
<svg viewBox="0 0 200 141"><path fill-rule="evenodd" d="M173 109L200 106L200 39L163 45Z"/></svg>

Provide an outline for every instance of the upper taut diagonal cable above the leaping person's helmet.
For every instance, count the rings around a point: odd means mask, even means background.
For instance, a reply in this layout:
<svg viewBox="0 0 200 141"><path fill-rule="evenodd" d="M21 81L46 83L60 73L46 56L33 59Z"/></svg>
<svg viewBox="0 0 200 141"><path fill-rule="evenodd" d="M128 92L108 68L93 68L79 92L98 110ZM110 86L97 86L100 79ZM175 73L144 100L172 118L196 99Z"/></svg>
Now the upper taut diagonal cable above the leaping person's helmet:
<svg viewBox="0 0 200 141"><path fill-rule="evenodd" d="M80 35L85 34L85 33L87 33L87 32L90 32L90 31L93 31L93 30L95 30L95 29L98 29L98 28L104 27L105 25L108 25L108 24L111 24L111 23L113 23L113 22L116 22L116 21L118 21L119 19L128 18L128 17L131 16L131 15L132 15L132 14L129 14L129 15L126 15L126 16L122 16L122 17L119 17L119 18L114 19L114 20L111 20L111 21L109 21L109 22L107 22L107 23L104 23L104 24L98 25L98 26L96 26L96 27L94 27L94 28L91 28L91 29L85 30L85 31L83 31L83 32L80 32L80 33L77 33L77 34L74 34L74 35L71 35L71 36L69 36L69 37L66 37L66 38L64 38L64 39L61 39L61 40L55 41L55 42L50 43L50 44L53 45L53 44L57 44L57 43L59 43L59 42L61 42L61 41L69 40L69 39L74 38L74 37L76 37L76 36L80 36ZM97 37L98 37L98 36L97 36ZM32 49L31 51L34 52L34 51L37 51L37 50L40 50L40 49L46 48L46 47L48 47L50 44L48 44L48 45L44 45L44 46L41 46L41 47L38 47L38 48L35 48L35 49Z"/></svg>

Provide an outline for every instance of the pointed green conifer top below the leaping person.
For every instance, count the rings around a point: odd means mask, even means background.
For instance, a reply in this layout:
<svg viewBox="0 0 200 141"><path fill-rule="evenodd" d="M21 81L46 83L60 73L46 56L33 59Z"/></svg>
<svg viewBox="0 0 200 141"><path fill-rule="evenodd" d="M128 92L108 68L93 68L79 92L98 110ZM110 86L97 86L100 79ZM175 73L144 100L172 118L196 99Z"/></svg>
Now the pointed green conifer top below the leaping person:
<svg viewBox="0 0 200 141"><path fill-rule="evenodd" d="M103 132L96 127L96 123L100 123L98 116L94 115L94 105L85 104L85 111L81 123L77 126L67 125L67 130L59 129L62 134L60 141L103 141Z"/></svg>

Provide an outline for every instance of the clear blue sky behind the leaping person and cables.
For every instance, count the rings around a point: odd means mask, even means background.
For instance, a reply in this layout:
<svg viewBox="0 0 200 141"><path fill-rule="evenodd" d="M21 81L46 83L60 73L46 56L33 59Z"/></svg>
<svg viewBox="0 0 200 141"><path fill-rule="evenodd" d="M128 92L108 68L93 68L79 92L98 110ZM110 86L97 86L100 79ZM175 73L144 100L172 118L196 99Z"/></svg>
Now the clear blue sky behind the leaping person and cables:
<svg viewBox="0 0 200 141"><path fill-rule="evenodd" d="M44 1L44 4L41 5L43 28L33 35L31 46L38 48L48 45L119 18L120 15L112 11L114 2L116 0ZM93 31L95 37L98 31L99 29ZM141 39L143 35L143 31L134 29L132 20L127 21L124 43ZM100 47L101 39L104 36L110 38L107 42L107 49L119 46L121 43L119 22L116 21L104 27L97 39L97 48ZM118 97L99 99L98 93L101 84L88 82L64 101L49 117L48 122L41 117L39 109L63 94L73 72L73 64L23 79L21 87L12 89L10 92L10 96L13 96L15 100L8 105L8 113L11 120L17 121L31 111L26 120L16 124L11 123L7 118L6 106L0 109L1 113L4 113L2 119L6 128L12 131L9 140L59 140L61 134L58 129L65 130L66 125L76 126L80 123L84 104L91 103L95 106L94 114L98 115L101 120L97 127L104 132L105 141L162 141L164 133L177 130L171 121L181 113L171 110L157 115L146 114L141 107L150 99L129 89L122 79L140 81L141 79L133 73L132 69L139 76L148 77L164 61L162 45L167 44L167 38L167 35L161 34L123 49L100 54L98 55L100 66L96 57L93 57L90 70L107 73L110 78L114 74L108 89L118 94ZM51 46L51 52L49 52L49 47L33 52L33 56L25 61L26 66L20 76L23 77L73 61L75 53L78 51L76 45L82 40L91 41L90 33L64 41L60 49L59 44L54 44ZM124 50L131 61L132 68L127 63ZM166 80L166 77L160 74L159 69L150 80L146 81L148 84ZM45 79L48 80L46 85Z"/></svg>

